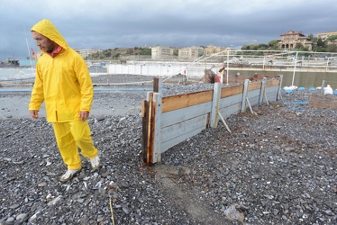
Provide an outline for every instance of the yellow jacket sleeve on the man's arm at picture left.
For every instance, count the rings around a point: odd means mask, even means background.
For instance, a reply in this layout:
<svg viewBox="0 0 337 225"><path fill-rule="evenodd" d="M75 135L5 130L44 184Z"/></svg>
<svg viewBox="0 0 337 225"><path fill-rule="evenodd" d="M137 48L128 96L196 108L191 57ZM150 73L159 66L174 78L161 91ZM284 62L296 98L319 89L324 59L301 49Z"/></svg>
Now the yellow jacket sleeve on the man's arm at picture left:
<svg viewBox="0 0 337 225"><path fill-rule="evenodd" d="M43 95L43 77L39 72L39 65L36 66L36 76L35 82L32 87L32 95L31 101L29 103L29 110L37 110L40 111L41 103L43 103L44 95Z"/></svg>

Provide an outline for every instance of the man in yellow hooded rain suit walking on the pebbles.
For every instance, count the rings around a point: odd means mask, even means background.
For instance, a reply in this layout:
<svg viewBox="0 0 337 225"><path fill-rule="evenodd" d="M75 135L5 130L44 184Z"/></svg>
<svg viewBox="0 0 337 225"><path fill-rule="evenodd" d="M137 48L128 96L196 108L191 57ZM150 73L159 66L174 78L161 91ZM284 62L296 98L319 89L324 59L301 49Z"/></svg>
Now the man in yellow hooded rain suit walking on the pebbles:
<svg viewBox="0 0 337 225"><path fill-rule="evenodd" d="M90 159L93 170L99 167L98 152L87 123L94 88L86 61L68 46L49 20L36 23L31 31L44 54L36 65L29 111L37 120L44 101L47 121L52 123L60 155L68 166L60 177L60 181L66 182L82 167L77 147Z"/></svg>

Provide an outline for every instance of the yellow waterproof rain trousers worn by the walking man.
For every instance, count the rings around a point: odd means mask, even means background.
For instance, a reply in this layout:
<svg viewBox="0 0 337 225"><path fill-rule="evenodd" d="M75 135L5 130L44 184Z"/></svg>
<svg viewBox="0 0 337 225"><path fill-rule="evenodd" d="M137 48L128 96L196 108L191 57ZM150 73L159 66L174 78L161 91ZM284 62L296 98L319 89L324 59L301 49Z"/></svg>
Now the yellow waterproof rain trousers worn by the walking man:
<svg viewBox="0 0 337 225"><path fill-rule="evenodd" d="M94 147L90 136L90 128L87 121L52 122L59 153L68 169L78 169L82 166L78 149L84 157L97 156L97 148Z"/></svg>

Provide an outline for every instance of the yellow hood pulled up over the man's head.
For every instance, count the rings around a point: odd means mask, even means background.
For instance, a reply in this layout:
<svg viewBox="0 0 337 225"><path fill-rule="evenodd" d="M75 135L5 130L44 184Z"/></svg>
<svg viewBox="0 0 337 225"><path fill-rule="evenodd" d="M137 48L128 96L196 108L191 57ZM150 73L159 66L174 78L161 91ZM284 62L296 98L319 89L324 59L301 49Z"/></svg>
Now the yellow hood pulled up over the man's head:
<svg viewBox="0 0 337 225"><path fill-rule="evenodd" d="M43 36L56 42L63 49L68 49L67 41L63 38L54 24L52 24L49 20L41 20L39 23L36 23L32 26L31 31L37 31ZM44 51L43 49L41 50Z"/></svg>

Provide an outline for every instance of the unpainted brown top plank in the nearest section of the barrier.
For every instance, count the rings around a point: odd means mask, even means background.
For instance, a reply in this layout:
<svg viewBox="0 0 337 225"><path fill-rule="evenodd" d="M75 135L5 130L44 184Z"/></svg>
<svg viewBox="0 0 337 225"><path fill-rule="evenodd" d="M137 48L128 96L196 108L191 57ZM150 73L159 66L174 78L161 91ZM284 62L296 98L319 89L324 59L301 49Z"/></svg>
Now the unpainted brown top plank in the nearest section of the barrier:
<svg viewBox="0 0 337 225"><path fill-rule="evenodd" d="M162 112L169 112L199 103L211 102L212 98L213 90L163 97Z"/></svg>

